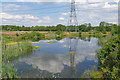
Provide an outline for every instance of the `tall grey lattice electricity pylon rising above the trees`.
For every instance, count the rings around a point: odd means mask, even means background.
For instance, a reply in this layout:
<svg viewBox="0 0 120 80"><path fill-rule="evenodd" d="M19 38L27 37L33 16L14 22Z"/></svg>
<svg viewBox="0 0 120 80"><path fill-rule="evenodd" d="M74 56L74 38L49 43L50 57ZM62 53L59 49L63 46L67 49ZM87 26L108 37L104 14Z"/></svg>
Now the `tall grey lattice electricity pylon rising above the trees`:
<svg viewBox="0 0 120 80"><path fill-rule="evenodd" d="M70 18L68 21L67 31L73 30L70 26L73 26L73 29L76 32L78 31L78 21L76 16L75 0L71 0L71 11L70 11Z"/></svg>

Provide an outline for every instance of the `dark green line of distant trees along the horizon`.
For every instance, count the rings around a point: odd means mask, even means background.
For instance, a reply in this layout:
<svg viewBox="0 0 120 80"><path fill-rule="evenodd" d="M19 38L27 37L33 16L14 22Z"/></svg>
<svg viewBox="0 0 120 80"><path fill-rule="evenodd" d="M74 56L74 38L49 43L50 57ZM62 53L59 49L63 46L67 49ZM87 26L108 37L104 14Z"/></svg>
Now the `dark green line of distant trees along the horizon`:
<svg viewBox="0 0 120 80"><path fill-rule="evenodd" d="M66 31L69 29L70 31L75 31L75 26L65 26L62 24L58 24L56 26L16 26L16 25L1 25L3 31ZM117 28L117 24L100 22L99 26L91 26L91 23L85 23L77 26L79 32L89 32L89 31L113 31Z"/></svg>

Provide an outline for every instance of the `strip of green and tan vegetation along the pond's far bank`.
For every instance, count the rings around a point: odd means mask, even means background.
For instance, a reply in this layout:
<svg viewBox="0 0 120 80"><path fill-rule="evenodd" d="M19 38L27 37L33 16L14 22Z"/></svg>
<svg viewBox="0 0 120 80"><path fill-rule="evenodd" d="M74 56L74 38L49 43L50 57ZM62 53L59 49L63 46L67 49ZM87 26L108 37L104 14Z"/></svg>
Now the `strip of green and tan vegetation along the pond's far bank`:
<svg viewBox="0 0 120 80"><path fill-rule="evenodd" d="M19 35L19 36L18 36ZM8 45L16 45L17 42L21 43L21 41L32 41L36 42L39 40L50 40L50 39L56 39L56 40L61 40L65 37L70 37L70 36L86 36L86 37L102 37L102 36L110 36L111 33L107 32L106 34L103 34L101 32L96 32L96 33L91 33L89 32L61 32L61 34L55 34L54 32L51 33L39 33L39 32L31 32L31 33L21 33L21 34L2 34L2 39L8 41Z"/></svg>

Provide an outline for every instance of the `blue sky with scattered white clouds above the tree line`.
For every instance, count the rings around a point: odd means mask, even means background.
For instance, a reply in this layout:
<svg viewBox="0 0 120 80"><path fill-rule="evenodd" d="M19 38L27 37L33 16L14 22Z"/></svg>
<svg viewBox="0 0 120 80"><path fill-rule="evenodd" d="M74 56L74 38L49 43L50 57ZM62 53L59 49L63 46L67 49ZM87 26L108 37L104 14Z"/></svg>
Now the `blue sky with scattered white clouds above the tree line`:
<svg viewBox="0 0 120 80"><path fill-rule="evenodd" d="M119 0L76 0L78 24L118 24ZM68 25L70 0L2 0L0 25Z"/></svg>

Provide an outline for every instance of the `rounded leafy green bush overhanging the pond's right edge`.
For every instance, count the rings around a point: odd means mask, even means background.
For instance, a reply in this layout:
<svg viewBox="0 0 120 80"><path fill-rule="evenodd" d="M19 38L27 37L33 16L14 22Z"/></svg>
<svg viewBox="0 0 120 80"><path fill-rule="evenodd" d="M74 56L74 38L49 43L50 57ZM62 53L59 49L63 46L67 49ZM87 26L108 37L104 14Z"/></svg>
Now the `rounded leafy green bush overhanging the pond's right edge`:
<svg viewBox="0 0 120 80"><path fill-rule="evenodd" d="M120 79L120 40L118 35L105 40L98 51L98 68L104 78Z"/></svg>

